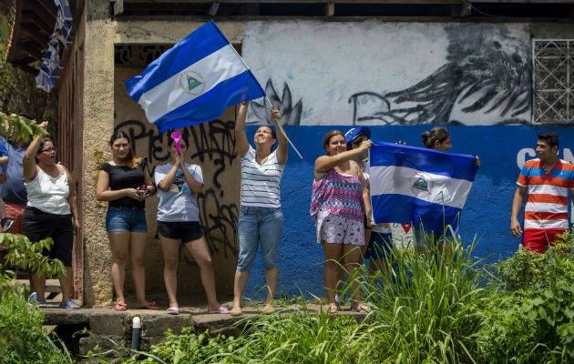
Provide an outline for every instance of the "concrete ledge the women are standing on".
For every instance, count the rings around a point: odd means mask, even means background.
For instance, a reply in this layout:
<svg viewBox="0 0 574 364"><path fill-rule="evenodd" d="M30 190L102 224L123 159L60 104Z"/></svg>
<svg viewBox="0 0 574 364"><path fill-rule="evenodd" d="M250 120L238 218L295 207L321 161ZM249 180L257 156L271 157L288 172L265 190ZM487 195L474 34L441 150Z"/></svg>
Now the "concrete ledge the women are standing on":
<svg viewBox="0 0 574 364"><path fill-rule="evenodd" d="M262 307L261 307L262 308ZM179 335L184 328L192 328L193 332L201 333L210 330L211 336L239 336L243 329L244 319L261 316L261 308L243 308L243 315L231 317L229 314L210 314L203 308L179 308L179 315L168 315L165 310L128 309L118 312L113 308L41 308L46 316L46 325L56 327L60 339L64 340L67 348L74 354L86 355L96 346L98 352L111 350L109 355L128 356L131 347L132 320L138 316L141 319L140 349L147 350L165 340L165 332L171 330ZM284 316L290 315L302 307L277 308ZM320 305L307 304L308 313L318 313ZM340 309L339 315L352 316L358 321L365 314L347 309ZM87 329L90 333L77 335L78 331Z"/></svg>

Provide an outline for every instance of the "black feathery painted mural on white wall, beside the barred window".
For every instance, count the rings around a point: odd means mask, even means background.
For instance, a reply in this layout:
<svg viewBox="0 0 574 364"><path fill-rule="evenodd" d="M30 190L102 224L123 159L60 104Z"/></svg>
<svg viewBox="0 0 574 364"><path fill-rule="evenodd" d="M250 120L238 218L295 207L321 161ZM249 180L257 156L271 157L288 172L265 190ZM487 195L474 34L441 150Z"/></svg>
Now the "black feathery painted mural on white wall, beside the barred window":
<svg viewBox="0 0 574 364"><path fill-rule="evenodd" d="M451 25L447 63L414 86L379 95L357 93L349 97L354 124L376 120L385 125L466 124L451 117L461 112L497 113L496 124L528 124L520 118L532 100L529 46L509 34L506 27ZM373 99L380 109L361 116L361 106Z"/></svg>

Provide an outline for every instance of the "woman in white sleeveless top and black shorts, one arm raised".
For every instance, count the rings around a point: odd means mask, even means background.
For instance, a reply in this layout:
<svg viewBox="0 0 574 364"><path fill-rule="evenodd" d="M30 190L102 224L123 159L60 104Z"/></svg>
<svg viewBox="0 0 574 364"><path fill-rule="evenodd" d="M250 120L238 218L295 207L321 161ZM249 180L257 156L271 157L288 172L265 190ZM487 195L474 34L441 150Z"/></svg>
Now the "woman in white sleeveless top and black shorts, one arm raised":
<svg viewBox="0 0 574 364"><path fill-rule="evenodd" d="M46 129L47 121L40 126ZM70 297L74 229L80 227L76 191L70 188L74 182L66 167L56 164L56 147L49 138L36 136L26 149L23 167L28 203L22 217L22 229L33 243L46 238L54 240L54 246L44 255L61 260L66 267L66 276L59 278L62 289L60 308L77 309L79 305ZM36 290L38 306L46 307L46 275L32 272L31 280L31 290Z"/></svg>

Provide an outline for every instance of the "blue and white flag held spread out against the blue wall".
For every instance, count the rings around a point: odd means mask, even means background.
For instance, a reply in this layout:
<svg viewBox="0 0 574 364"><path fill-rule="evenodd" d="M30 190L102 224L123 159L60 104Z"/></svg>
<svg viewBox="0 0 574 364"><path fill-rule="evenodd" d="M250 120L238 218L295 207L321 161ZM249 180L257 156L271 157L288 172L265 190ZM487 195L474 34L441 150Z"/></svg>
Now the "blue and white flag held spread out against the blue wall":
<svg viewBox="0 0 574 364"><path fill-rule="evenodd" d="M457 228L477 174L474 156L375 141L369 162L374 222L439 234Z"/></svg>

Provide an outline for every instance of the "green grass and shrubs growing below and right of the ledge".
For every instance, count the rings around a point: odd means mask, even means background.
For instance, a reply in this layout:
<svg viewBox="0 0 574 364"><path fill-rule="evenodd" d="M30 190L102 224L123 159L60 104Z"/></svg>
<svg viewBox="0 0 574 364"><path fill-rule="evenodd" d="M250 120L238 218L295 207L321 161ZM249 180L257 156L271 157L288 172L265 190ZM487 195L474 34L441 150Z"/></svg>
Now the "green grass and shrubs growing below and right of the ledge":
<svg viewBox="0 0 574 364"><path fill-rule="evenodd" d="M373 308L362 321L307 312L304 298L283 299L288 306L283 312L241 320L238 338L211 338L190 329L181 336L168 334L143 361L574 362L571 239L568 247L544 257L518 252L494 268L473 256L476 241L465 246L460 238L449 239L448 255L437 248L395 254L392 268L376 279L361 278L364 267L351 274L347 282L356 279ZM525 273L524 267L532 271ZM350 294L350 285L343 291Z"/></svg>

